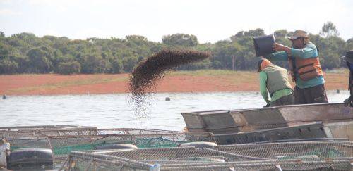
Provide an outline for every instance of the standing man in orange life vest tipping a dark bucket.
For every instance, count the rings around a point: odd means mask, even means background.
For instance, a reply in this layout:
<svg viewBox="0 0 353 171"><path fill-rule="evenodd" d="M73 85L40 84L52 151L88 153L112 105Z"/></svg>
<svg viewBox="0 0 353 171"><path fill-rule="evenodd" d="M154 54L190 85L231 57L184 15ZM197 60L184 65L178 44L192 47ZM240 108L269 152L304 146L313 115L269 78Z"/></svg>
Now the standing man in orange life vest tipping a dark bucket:
<svg viewBox="0 0 353 171"><path fill-rule="evenodd" d="M315 44L309 42L305 31L297 30L292 37L292 48L282 44L273 44L272 53L266 56L270 61L289 61L289 70L294 88L296 104L328 103L325 91L323 70L318 59L318 50Z"/></svg>

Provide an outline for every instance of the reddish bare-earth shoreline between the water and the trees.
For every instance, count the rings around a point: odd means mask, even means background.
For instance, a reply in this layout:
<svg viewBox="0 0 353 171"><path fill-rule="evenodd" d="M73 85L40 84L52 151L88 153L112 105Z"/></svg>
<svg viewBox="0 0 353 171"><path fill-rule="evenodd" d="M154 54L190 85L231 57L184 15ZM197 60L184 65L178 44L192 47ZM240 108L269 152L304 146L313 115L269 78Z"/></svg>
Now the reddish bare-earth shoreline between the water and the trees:
<svg viewBox="0 0 353 171"><path fill-rule="evenodd" d="M346 90L347 70L325 73L326 90ZM72 95L128 93L129 74L118 75L0 75L0 95ZM292 83L292 85L294 85ZM259 91L258 73L229 70L169 72L154 93Z"/></svg>

